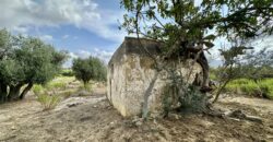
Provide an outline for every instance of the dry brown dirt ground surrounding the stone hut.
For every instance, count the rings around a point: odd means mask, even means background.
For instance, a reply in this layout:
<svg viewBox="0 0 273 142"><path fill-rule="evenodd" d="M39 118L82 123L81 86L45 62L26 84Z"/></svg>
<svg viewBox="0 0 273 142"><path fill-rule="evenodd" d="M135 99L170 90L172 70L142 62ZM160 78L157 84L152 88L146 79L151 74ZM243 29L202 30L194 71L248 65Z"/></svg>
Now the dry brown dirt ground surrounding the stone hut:
<svg viewBox="0 0 273 142"><path fill-rule="evenodd" d="M215 106L226 110L241 109L247 115L261 117L263 122L200 114L135 122L133 118L122 118L108 104L104 93L68 98L49 111L43 111L34 96L29 96L22 102L0 105L0 141L273 142L272 100L225 97Z"/></svg>

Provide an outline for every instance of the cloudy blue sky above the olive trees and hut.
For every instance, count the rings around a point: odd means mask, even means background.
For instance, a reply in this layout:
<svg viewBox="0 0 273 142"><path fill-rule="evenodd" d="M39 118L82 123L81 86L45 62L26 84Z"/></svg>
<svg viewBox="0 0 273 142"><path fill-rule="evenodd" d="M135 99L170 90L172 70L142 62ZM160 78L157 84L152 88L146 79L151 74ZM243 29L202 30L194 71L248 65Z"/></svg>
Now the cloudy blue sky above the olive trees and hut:
<svg viewBox="0 0 273 142"><path fill-rule="evenodd" d="M0 28L13 34L35 36L68 50L73 58L96 56L106 63L127 34L118 29L124 14L120 0L1 0ZM217 39L217 47L224 39ZM273 36L258 40L273 47ZM219 63L217 48L209 60Z"/></svg>

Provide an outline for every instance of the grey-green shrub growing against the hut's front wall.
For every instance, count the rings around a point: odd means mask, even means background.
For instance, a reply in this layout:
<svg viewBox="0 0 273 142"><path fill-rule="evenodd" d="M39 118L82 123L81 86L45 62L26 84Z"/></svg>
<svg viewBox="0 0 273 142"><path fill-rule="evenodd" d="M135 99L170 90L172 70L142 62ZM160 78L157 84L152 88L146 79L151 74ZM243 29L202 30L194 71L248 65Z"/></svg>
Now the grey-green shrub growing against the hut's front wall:
<svg viewBox="0 0 273 142"><path fill-rule="evenodd" d="M162 96L164 114L168 115L177 107L182 111L203 111L207 105L206 95L198 86L186 83L178 72L170 70L169 73L170 82L164 87Z"/></svg>

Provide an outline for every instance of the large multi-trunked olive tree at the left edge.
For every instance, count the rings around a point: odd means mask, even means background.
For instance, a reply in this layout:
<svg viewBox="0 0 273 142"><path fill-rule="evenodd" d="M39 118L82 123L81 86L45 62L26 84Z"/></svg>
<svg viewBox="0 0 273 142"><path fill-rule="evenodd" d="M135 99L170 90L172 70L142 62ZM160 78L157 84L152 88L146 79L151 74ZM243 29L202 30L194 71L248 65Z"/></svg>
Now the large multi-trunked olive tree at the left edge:
<svg viewBox="0 0 273 142"><path fill-rule="evenodd" d="M3 29L0 33L3 35L7 31ZM0 99L2 102L23 99L35 83L45 84L54 79L67 58L64 51L57 51L38 38L22 36L0 38L4 43L2 45L9 45L1 47L5 49L0 59ZM25 87L22 91L23 86Z"/></svg>

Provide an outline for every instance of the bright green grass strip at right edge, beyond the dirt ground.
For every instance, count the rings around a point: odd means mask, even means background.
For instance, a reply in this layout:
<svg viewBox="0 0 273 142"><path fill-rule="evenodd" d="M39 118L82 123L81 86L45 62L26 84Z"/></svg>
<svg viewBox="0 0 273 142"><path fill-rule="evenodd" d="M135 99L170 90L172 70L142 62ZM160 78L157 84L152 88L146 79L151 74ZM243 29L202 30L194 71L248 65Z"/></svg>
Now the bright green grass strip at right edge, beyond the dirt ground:
<svg viewBox="0 0 273 142"><path fill-rule="evenodd" d="M258 82L248 79L234 80L226 85L226 91L273 99L273 79L264 79Z"/></svg>

